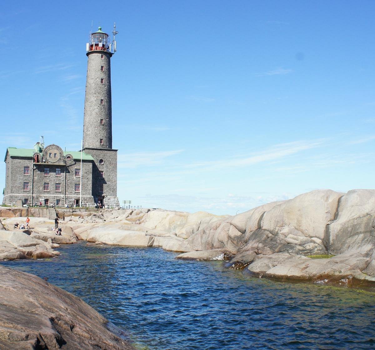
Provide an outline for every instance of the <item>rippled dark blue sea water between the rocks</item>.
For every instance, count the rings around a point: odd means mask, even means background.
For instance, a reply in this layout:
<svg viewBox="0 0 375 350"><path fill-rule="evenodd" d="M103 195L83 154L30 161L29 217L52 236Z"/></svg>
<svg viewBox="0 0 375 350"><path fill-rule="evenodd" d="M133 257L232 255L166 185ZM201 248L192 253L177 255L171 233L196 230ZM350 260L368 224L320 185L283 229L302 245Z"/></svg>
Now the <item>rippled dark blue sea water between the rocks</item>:
<svg viewBox="0 0 375 350"><path fill-rule="evenodd" d="M159 248L62 245L55 259L2 265L48 278L139 349L375 349L375 293L246 277Z"/></svg>

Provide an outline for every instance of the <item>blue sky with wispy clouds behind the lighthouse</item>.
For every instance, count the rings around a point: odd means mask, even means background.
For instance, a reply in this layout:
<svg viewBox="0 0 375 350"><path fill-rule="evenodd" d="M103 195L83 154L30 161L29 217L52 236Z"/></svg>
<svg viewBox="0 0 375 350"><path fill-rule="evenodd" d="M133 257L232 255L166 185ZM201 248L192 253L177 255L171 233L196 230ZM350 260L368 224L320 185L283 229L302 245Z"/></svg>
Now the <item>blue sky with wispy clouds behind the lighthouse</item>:
<svg viewBox="0 0 375 350"><path fill-rule="evenodd" d="M86 42L115 22L120 203L234 215L374 188L375 1L15 1L1 12L4 156L40 135L80 150Z"/></svg>

